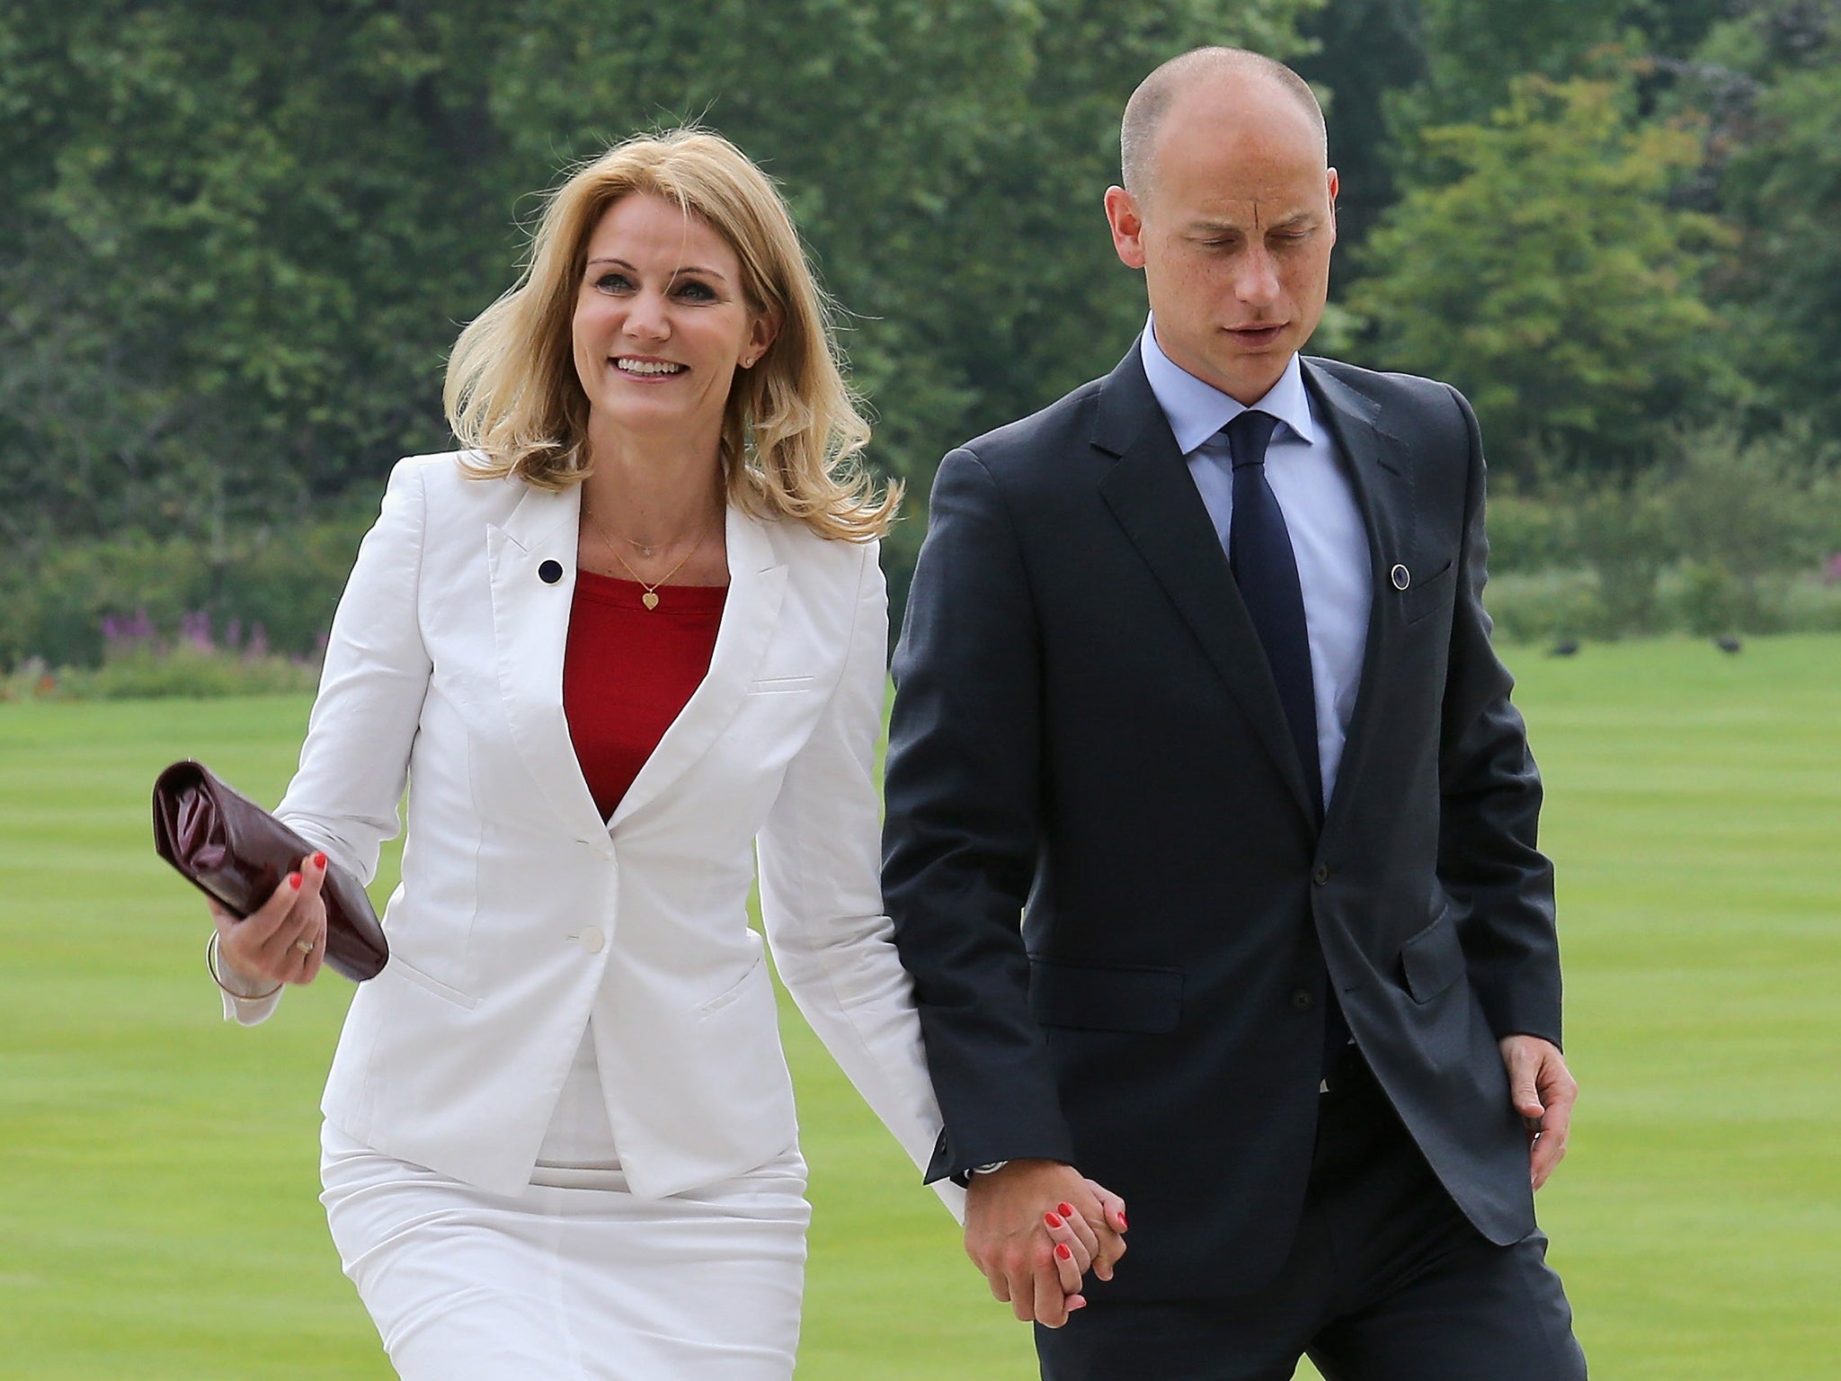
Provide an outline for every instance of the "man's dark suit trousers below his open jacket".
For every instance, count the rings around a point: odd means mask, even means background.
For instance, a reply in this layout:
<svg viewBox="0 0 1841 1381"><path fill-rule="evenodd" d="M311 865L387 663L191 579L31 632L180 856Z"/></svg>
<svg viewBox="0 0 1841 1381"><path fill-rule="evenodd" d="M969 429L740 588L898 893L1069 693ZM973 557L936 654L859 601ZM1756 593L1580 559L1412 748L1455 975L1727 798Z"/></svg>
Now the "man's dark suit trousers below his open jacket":
<svg viewBox="0 0 1841 1381"><path fill-rule="evenodd" d="M1036 1328L1042 1381L1291 1381L1303 1355L1327 1381L1585 1381L1546 1237L1486 1241L1353 1050L1338 1072L1278 1278L1222 1300L1090 1304Z"/></svg>

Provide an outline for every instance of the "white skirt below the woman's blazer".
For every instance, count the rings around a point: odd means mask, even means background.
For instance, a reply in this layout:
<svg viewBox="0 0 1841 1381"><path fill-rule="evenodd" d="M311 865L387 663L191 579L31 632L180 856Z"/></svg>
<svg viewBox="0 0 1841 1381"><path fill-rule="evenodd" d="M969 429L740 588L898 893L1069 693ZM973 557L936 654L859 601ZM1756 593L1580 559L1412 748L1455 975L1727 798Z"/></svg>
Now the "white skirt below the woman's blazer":
<svg viewBox="0 0 1841 1381"><path fill-rule="evenodd" d="M635 1199L608 1158L556 1158L506 1197L331 1125L320 1145L333 1243L405 1381L793 1374L812 1217L797 1147L733 1180Z"/></svg>

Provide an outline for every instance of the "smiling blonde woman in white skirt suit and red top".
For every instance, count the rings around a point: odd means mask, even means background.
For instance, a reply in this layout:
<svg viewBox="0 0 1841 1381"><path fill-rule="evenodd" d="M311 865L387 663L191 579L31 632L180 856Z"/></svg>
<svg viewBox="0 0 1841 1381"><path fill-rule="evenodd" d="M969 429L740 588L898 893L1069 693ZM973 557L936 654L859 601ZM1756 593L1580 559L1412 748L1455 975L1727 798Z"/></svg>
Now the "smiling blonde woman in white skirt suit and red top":
<svg viewBox="0 0 1841 1381"><path fill-rule="evenodd" d="M447 411L469 449L392 473L276 812L322 853L215 915L226 1015L315 978L328 858L368 880L407 781L322 1103L398 1372L786 1377L810 1210L757 841L801 1011L917 1164L939 1114L876 886L895 495L784 204L705 133L587 164Z"/></svg>

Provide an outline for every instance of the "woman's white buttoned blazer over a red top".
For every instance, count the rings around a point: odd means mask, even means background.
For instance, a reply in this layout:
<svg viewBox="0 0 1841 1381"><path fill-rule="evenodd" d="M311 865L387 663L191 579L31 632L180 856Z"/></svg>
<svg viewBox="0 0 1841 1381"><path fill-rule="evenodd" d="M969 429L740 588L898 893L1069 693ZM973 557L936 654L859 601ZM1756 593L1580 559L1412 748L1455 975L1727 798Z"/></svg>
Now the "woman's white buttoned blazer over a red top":
<svg viewBox="0 0 1841 1381"><path fill-rule="evenodd" d="M876 871L887 613L874 543L729 510L709 676L604 819L562 703L580 490L475 481L457 462L414 457L390 475L276 810L368 882L409 784L390 963L352 1000L326 1118L517 1193L593 1015L635 1195L771 1160L797 1123L747 928L758 854L781 978L926 1166L939 1108Z"/></svg>

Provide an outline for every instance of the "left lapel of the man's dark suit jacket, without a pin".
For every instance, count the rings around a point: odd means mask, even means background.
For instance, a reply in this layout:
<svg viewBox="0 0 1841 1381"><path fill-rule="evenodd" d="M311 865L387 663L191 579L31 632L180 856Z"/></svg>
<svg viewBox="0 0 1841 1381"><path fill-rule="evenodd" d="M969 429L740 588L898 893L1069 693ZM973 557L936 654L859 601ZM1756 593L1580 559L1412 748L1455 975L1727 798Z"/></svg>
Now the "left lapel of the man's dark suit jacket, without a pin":
<svg viewBox="0 0 1841 1381"><path fill-rule="evenodd" d="M1298 808L1314 821L1314 792L1305 790L1259 633L1136 348L1101 385L1094 446L1117 457L1099 482L1101 497L1239 702Z"/></svg>

